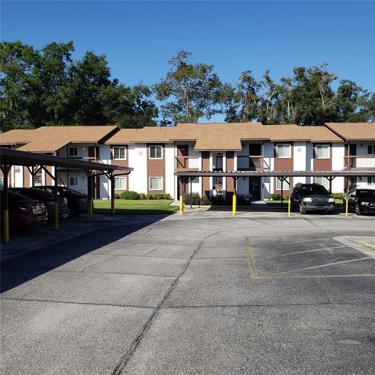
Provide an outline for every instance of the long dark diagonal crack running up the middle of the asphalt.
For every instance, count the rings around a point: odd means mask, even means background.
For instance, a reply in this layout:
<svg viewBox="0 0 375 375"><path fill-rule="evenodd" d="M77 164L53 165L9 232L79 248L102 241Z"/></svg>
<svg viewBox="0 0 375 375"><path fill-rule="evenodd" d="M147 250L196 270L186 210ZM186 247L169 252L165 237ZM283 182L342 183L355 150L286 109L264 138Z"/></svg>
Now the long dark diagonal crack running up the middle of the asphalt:
<svg viewBox="0 0 375 375"><path fill-rule="evenodd" d="M190 265L190 262L191 260L194 258L194 256L198 253L198 251L200 250L203 242L208 238L208 237L211 237L215 234L218 234L222 232L221 231L218 231L218 232L215 232L215 233L212 233L206 237L204 237L202 239L202 241L200 242L200 244L197 246L197 248L193 251L193 253L191 254L190 258L187 260L184 268L180 271L180 273L178 274L178 276L173 280L173 282L170 284L167 292L164 294L163 298L161 299L161 301L158 303L158 305L156 306L156 308L154 309L154 311L151 313L151 315L149 316L149 318L146 320L146 323L144 324L144 326L142 327L141 329L141 332L139 333L139 335L132 341L131 345L130 345L130 349L125 353L125 355L121 358L119 364L114 368L114 370L110 373L110 375L120 375L122 373L122 371L125 369L126 367L126 364L127 362L129 361L129 359L131 358L132 354L135 352L135 350L137 349L138 345L141 343L144 335L146 334L146 332L151 328L151 325L152 323L154 322L155 318L157 317L157 314L158 312L162 309L164 303L166 302L167 298L169 297L170 293L173 291L174 287L177 285L177 283L179 282L181 276L186 272L187 268L189 267Z"/></svg>

